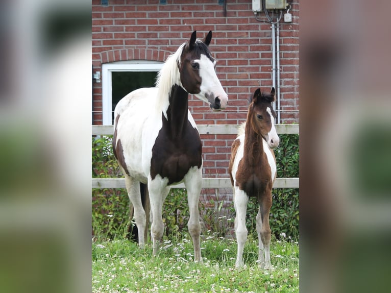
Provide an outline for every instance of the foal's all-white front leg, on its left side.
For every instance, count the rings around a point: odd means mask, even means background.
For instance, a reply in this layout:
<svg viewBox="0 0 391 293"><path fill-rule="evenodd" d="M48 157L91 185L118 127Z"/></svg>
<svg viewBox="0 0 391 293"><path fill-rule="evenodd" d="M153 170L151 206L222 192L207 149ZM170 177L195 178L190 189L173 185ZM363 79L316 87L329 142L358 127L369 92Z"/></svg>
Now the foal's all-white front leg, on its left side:
<svg viewBox="0 0 391 293"><path fill-rule="evenodd" d="M236 267L243 266L243 249L245 248L247 240L246 211L248 202L249 197L247 194L243 190L236 188L234 195L234 207L236 212L235 234L237 241Z"/></svg>

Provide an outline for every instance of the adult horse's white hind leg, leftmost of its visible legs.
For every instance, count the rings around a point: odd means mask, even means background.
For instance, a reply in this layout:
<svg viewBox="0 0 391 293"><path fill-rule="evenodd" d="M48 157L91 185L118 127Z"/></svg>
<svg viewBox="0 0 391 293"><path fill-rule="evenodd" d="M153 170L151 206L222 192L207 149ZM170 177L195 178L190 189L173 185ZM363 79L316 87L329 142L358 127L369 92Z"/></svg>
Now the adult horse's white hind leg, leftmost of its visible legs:
<svg viewBox="0 0 391 293"><path fill-rule="evenodd" d="M144 234L145 234L145 211L142 207L141 194L140 194L140 182L134 180L132 177L128 176L125 172L125 186L128 191L129 199L134 208L134 218L136 221L136 226L138 229L138 245L139 247L144 247Z"/></svg>

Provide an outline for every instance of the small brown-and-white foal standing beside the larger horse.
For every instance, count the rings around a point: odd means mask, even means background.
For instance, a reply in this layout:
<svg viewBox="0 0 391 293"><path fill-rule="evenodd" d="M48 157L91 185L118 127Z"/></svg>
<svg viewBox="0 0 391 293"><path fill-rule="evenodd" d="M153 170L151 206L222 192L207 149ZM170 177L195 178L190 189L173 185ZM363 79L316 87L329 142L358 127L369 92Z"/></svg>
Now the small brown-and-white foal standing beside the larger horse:
<svg viewBox="0 0 391 293"><path fill-rule="evenodd" d="M275 100L274 94L274 88L270 93L261 93L259 88L254 92L247 121L239 129L238 137L232 143L229 174L236 212L236 267L243 265L249 197L256 197L259 203L256 217L258 261L264 268L271 267L269 212L272 206L273 181L276 178L276 159L273 149L280 142L274 125L276 113L271 104Z"/></svg>

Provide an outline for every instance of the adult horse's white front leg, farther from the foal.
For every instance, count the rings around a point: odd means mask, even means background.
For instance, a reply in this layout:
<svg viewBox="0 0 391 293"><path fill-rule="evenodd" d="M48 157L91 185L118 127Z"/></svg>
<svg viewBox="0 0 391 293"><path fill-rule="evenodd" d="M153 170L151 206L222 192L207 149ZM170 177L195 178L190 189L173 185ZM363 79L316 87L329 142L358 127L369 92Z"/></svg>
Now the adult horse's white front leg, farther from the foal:
<svg viewBox="0 0 391 293"><path fill-rule="evenodd" d="M154 180L148 179L148 191L150 193L152 212L151 237L153 242L153 255L156 255L159 250L159 243L164 232L162 207L163 200L166 198L169 189L167 179L163 180L160 175L157 175Z"/></svg>

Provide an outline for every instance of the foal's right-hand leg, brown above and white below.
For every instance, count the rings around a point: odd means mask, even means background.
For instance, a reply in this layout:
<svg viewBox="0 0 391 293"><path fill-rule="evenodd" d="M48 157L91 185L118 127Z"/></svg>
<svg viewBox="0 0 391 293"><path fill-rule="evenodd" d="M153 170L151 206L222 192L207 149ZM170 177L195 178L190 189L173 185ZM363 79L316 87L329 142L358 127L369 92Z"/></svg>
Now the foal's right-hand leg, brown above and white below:
<svg viewBox="0 0 391 293"><path fill-rule="evenodd" d="M270 239L272 231L269 225L269 213L272 207L272 192L267 192L261 199L259 212L256 217L257 232L259 240L258 260L260 265L267 270L271 268L270 263Z"/></svg>

